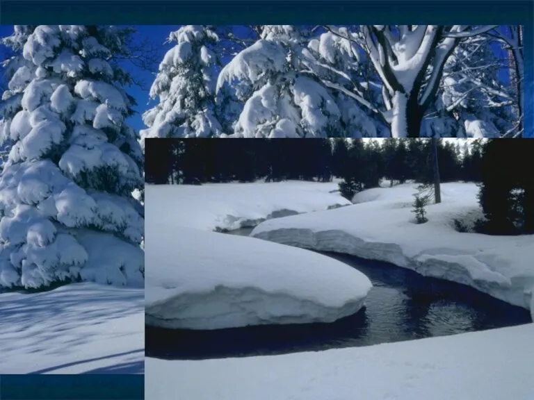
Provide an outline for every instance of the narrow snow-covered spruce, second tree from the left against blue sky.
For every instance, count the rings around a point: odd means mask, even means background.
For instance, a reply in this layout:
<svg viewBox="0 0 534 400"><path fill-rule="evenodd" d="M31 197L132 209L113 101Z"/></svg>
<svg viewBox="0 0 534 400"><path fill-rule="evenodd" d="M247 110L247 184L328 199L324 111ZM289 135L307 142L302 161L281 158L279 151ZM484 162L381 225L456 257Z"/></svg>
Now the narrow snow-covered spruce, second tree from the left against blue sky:
<svg viewBox="0 0 534 400"><path fill-rule="evenodd" d="M170 34L176 42L159 65L150 97L159 104L143 114L146 138L207 138L221 132L215 109L220 61L213 51L218 38L207 26L186 25Z"/></svg>

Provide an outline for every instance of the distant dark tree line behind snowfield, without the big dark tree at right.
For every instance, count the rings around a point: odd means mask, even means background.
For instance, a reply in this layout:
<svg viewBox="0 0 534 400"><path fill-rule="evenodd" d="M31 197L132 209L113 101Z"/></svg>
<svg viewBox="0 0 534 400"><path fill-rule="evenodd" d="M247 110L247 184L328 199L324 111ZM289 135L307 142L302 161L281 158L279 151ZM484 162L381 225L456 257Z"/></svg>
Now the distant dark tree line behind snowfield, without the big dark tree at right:
<svg viewBox="0 0 534 400"><path fill-rule="evenodd" d="M442 182L480 181L482 142L439 140ZM428 139L151 139L145 144L147 183L189 184L343 178L359 190L432 181Z"/></svg>

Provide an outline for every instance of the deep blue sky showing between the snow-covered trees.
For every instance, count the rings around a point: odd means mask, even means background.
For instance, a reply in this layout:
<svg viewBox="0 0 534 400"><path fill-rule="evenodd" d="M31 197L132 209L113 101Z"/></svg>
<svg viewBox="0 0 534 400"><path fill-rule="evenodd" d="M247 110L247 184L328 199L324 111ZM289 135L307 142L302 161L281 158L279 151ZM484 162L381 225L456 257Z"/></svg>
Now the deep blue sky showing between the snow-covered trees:
<svg viewBox="0 0 534 400"><path fill-rule="evenodd" d="M149 40L149 42L156 47L159 56L158 60L163 60L163 56L165 53L173 46L172 43L166 43L165 41L169 37L169 34L172 31L177 31L179 28L179 25L138 25L135 26L137 28L137 35L136 40ZM244 28L240 28L239 26L234 26L234 32L240 35L245 31ZM0 25L0 37L6 37L13 33L13 26L12 25ZM499 47L497 45L494 46L494 49L496 51L499 51ZM4 51L5 48L0 44L0 61L4 59ZM227 60L223 60L223 63L227 62ZM143 124L143 119L141 119L141 114L144 110L147 110L154 106L156 104L156 101L151 101L149 99L149 88L150 85L152 85L152 81L154 81L154 74L157 72L157 65L154 66L154 72L147 72L143 71L142 69L139 69L131 64L126 64L124 67L131 73L133 76L136 77L138 81L143 81L145 83L144 88L139 88L138 86L132 86L131 88L128 88L127 91L131 96L133 96L137 101L137 106L135 107L136 111L138 113L136 115L133 115L129 119L129 122L133 128L136 130L140 130L145 128L145 124ZM503 71L505 72L505 71ZM501 79L508 80L508 76L506 73L501 74Z"/></svg>

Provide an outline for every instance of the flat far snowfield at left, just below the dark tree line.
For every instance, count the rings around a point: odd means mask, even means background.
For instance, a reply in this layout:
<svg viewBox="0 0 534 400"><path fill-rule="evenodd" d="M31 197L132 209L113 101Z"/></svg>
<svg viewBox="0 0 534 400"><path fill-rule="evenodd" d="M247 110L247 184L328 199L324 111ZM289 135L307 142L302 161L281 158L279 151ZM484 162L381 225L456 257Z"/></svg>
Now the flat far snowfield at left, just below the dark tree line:
<svg viewBox="0 0 534 400"><path fill-rule="evenodd" d="M350 201L337 193L337 183L216 183L146 185L148 222L165 222L207 231L255 226L280 212L309 213Z"/></svg>

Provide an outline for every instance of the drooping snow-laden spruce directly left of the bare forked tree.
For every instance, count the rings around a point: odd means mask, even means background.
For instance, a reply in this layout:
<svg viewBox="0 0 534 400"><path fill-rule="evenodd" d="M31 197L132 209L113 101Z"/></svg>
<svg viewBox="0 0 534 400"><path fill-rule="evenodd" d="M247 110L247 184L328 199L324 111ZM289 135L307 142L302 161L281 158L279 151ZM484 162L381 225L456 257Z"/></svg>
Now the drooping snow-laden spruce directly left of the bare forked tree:
<svg viewBox="0 0 534 400"><path fill-rule="evenodd" d="M302 71L310 35L304 27L261 26L260 39L220 72L218 102L222 113L238 115L235 137L340 135L341 110L334 97Z"/></svg>

